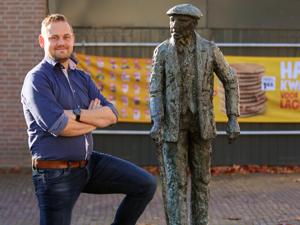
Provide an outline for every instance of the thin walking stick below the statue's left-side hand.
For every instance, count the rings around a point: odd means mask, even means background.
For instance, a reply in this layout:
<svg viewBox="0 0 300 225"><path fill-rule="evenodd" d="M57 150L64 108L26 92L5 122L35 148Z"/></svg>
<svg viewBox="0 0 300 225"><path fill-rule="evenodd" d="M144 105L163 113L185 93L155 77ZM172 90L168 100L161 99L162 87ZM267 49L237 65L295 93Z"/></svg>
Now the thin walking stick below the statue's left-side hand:
<svg viewBox="0 0 300 225"><path fill-rule="evenodd" d="M157 153L158 166L159 166L159 176L161 182L161 192L162 192L165 220L167 225L171 225L170 213L169 213L169 207L167 201L166 181L165 181L163 157L161 152L161 144L159 144L157 141L156 141L156 153Z"/></svg>

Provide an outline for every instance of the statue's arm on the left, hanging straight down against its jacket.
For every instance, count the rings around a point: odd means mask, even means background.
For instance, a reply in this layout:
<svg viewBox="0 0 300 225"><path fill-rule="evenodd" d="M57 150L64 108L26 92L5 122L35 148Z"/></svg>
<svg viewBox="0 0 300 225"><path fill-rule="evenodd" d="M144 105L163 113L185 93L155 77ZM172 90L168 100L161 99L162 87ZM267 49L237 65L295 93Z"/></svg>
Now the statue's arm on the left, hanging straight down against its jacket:
<svg viewBox="0 0 300 225"><path fill-rule="evenodd" d="M161 143L164 134L164 89L165 89L165 69L163 50L157 47L153 53L151 79L149 88L150 116L153 124L150 136L158 143Z"/></svg>

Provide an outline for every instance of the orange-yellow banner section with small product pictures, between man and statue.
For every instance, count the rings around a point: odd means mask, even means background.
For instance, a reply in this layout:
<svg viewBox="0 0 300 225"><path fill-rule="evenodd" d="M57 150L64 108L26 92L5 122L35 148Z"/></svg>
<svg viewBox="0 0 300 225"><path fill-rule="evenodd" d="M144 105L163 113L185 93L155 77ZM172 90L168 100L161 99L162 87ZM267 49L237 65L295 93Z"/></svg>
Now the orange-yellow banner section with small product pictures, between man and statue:
<svg viewBox="0 0 300 225"><path fill-rule="evenodd" d="M151 58L101 57L74 53L77 68L88 73L114 104L120 122L150 122Z"/></svg>

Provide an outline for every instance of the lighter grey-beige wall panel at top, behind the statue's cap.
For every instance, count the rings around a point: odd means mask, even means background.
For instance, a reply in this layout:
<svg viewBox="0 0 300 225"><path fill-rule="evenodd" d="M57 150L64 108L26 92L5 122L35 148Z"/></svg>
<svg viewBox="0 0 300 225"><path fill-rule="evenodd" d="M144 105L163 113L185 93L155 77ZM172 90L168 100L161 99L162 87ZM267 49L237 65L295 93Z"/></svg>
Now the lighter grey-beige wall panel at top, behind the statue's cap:
<svg viewBox="0 0 300 225"><path fill-rule="evenodd" d="M166 11L182 3L193 4L206 12L206 0L48 1L49 12L64 14L73 26L167 27ZM206 16L203 16L198 26L205 25Z"/></svg>

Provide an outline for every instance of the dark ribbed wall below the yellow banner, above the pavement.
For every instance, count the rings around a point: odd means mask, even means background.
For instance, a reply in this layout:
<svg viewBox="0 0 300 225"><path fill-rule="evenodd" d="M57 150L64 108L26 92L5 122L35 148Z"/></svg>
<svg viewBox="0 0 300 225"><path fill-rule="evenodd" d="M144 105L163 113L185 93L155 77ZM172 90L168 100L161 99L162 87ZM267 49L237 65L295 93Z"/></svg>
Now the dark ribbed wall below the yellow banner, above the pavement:
<svg viewBox="0 0 300 225"><path fill-rule="evenodd" d="M225 123L217 123L225 130ZM150 130L150 123L119 122L111 129ZM298 123L240 123L241 130L299 130ZM148 135L93 134L94 150L111 154L137 165L157 165L155 142ZM300 135L240 135L228 144L226 135L212 140L212 165L300 164Z"/></svg>

